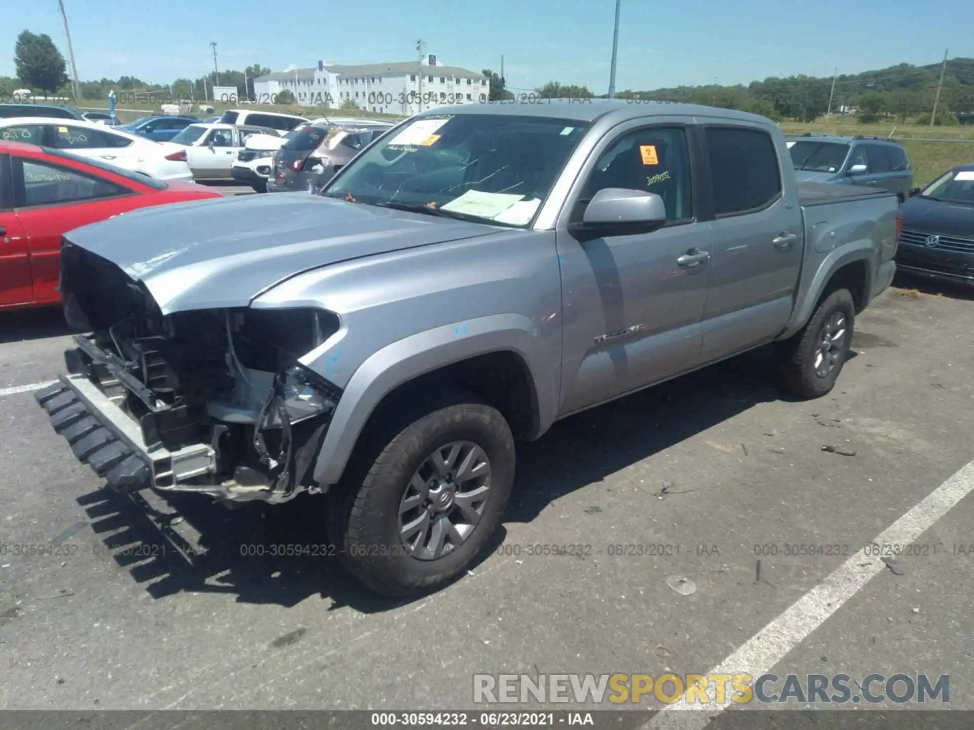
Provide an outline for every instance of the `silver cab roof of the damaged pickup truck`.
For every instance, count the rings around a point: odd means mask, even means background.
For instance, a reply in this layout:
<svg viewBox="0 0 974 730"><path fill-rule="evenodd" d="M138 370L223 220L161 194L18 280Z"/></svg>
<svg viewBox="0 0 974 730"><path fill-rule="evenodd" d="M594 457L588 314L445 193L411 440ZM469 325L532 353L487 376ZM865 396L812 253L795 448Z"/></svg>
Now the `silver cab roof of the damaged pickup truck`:
<svg viewBox="0 0 974 730"><path fill-rule="evenodd" d="M524 96L524 94L522 94ZM416 117L430 117L442 114L498 114L523 117L552 117L571 119L579 122L594 122L612 113L619 121L641 119L643 117L693 116L719 117L726 120L739 120L768 124L768 118L750 112L734 109L720 109L701 104L681 104L671 101L642 101L638 99L543 99L533 95L511 101L489 101L483 104L459 104L440 106L417 114Z"/></svg>

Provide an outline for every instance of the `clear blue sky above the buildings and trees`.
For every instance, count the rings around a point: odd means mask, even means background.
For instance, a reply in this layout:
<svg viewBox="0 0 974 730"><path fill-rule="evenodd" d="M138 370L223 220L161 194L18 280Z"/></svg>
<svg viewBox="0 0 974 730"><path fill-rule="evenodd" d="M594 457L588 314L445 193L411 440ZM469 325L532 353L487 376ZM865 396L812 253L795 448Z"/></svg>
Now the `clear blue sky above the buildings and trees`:
<svg viewBox="0 0 974 730"><path fill-rule="evenodd" d="M318 59L411 60L423 38L439 62L476 71L500 71L503 54L512 89L559 81L604 92L609 85L615 0L64 2L82 80L197 77L212 69L210 41L220 68L261 63L278 71ZM56 0L5 4L0 75L13 75L24 28L48 33L65 51ZM771 75L829 76L837 66L856 73L934 63L947 49L974 56L972 27L971 0L622 0L616 87L746 84Z"/></svg>

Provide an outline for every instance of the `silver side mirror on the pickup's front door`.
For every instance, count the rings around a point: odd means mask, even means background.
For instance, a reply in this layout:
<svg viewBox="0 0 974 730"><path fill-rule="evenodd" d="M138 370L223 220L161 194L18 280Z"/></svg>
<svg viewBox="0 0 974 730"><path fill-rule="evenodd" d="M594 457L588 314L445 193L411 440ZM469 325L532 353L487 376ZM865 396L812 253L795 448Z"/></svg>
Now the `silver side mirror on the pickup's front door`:
<svg viewBox="0 0 974 730"><path fill-rule="evenodd" d="M656 193L623 188L600 190L569 230L582 239L649 234L666 223L666 205Z"/></svg>

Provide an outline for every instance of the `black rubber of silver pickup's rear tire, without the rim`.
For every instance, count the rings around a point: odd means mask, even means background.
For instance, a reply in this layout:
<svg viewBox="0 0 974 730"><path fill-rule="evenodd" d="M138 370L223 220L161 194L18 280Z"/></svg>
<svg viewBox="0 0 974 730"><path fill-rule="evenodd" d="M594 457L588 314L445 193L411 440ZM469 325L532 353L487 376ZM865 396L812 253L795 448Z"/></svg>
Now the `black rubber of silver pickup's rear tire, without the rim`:
<svg viewBox="0 0 974 730"><path fill-rule="evenodd" d="M823 377L815 372L815 361L826 324L837 312L845 317L842 342L837 350L835 366ZM843 370L854 331L855 303L852 295L848 289L836 289L819 303L804 328L775 345L782 387L803 398L820 398L831 392Z"/></svg>

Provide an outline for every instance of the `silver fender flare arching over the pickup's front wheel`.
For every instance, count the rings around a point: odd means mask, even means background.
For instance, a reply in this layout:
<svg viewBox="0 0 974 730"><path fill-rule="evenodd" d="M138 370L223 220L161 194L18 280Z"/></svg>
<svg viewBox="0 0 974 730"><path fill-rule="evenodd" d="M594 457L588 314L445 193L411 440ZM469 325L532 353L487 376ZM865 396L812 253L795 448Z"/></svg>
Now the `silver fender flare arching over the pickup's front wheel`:
<svg viewBox="0 0 974 730"><path fill-rule="evenodd" d="M522 314L492 314L442 325L410 335L370 355L346 385L328 425L315 462L314 478L322 488L341 478L358 437L382 399L402 383L476 355L509 350L528 368L534 382L541 431L555 420L557 392L540 391L543 368L534 343L535 323ZM553 379L555 389L557 379Z"/></svg>

